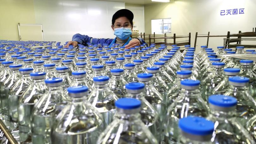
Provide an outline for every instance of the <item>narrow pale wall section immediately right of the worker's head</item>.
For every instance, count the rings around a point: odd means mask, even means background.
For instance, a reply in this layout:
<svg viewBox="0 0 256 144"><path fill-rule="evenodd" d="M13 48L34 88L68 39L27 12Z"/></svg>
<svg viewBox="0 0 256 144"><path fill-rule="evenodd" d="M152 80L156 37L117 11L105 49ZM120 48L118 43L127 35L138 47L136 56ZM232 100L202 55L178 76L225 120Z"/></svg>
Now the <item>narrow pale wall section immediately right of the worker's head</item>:
<svg viewBox="0 0 256 144"><path fill-rule="evenodd" d="M138 30L139 33L145 32L145 23L144 23L144 6L143 5L134 5L134 4L125 4L125 9L131 10L134 15L133 18L133 30Z"/></svg>

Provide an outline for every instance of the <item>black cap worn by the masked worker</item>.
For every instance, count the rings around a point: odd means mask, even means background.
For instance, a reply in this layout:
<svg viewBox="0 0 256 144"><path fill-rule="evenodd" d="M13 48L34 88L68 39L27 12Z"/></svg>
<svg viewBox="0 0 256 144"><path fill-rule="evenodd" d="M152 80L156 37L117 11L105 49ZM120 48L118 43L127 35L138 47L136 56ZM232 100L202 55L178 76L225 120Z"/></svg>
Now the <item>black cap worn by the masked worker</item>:
<svg viewBox="0 0 256 144"><path fill-rule="evenodd" d="M116 19L118 19L119 17L123 17L123 16L126 17L130 21L131 25L133 25L133 22L132 22L133 13L128 9L118 10L112 17L112 25L114 25Z"/></svg>

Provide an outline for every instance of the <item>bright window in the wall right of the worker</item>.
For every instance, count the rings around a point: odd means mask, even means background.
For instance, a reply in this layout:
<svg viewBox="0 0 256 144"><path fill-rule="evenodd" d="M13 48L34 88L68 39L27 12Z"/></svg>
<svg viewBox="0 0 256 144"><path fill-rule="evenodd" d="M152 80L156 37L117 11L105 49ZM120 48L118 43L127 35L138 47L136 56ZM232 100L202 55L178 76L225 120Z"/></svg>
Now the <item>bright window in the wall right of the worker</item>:
<svg viewBox="0 0 256 144"><path fill-rule="evenodd" d="M171 33L171 18L151 20L151 33Z"/></svg>

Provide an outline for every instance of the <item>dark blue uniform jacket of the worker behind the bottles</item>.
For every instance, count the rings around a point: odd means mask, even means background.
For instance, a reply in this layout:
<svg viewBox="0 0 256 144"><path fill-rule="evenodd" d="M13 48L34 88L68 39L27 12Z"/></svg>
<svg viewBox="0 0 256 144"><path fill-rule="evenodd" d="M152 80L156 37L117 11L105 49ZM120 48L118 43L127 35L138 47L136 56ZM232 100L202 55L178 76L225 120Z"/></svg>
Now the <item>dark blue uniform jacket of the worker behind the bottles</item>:
<svg viewBox="0 0 256 144"><path fill-rule="evenodd" d="M140 41L141 45L143 43L146 43L142 38L137 38L137 39ZM131 37L129 37L129 39L125 43L125 45L127 45L130 40L131 40ZM112 43L116 43L116 38L114 38L114 39L97 39L97 38L89 37L88 35L82 35L82 34L76 33L75 35L73 35L72 41L77 41L78 43L80 43L82 45L87 45L87 43L92 43L93 45L96 45L96 44L101 44L101 45L108 44L108 45L110 45Z"/></svg>

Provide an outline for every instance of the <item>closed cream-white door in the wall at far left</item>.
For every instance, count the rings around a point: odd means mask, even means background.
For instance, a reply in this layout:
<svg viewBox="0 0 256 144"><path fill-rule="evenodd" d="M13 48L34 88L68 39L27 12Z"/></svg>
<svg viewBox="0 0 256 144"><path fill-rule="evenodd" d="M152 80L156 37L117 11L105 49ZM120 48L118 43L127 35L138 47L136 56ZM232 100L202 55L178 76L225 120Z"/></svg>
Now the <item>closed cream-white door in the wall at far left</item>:
<svg viewBox="0 0 256 144"><path fill-rule="evenodd" d="M44 41L43 24L18 24L20 41Z"/></svg>

